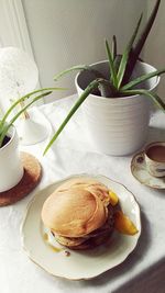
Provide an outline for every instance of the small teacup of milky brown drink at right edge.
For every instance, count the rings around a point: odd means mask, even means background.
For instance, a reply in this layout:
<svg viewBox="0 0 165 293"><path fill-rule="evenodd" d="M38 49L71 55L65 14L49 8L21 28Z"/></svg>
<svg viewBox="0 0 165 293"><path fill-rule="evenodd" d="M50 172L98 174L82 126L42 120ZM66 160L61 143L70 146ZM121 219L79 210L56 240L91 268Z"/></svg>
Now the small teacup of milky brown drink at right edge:
<svg viewBox="0 0 165 293"><path fill-rule="evenodd" d="M154 177L165 177L165 142L155 142L144 149L147 171Z"/></svg>

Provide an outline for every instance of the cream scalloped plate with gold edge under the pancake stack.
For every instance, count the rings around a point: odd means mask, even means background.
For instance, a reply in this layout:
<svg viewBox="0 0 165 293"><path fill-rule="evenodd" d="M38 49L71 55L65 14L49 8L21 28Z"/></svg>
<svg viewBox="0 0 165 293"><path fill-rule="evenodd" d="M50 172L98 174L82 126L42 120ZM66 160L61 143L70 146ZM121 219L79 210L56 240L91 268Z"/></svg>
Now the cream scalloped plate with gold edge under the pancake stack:
<svg viewBox="0 0 165 293"><path fill-rule="evenodd" d="M46 198L66 180L48 185L40 191L28 207L21 227L22 245L28 256L48 273L70 280L95 278L109 269L120 264L135 248L141 234L140 207L133 194L122 184L103 176L78 174L78 177L92 177L113 190L121 203L122 211L133 221L139 229L134 236L113 233L109 244L85 251L63 249L55 252L43 238L41 210ZM69 251L67 257L65 251Z"/></svg>

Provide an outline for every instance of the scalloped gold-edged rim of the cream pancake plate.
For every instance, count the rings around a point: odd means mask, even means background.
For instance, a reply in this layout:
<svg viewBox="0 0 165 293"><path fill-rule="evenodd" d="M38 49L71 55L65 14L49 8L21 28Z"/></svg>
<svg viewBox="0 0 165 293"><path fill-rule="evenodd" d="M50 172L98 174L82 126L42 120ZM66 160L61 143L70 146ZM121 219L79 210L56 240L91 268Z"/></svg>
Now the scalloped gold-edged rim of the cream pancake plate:
<svg viewBox="0 0 165 293"><path fill-rule="evenodd" d="M112 182L114 182L114 183L121 185L122 188L124 188L124 189L130 193L131 198L134 200L134 202L135 202L135 204L136 204L136 207L138 207L138 218L139 218L139 225L140 225L140 227L139 227L139 237L138 237L138 239L136 239L136 243L135 243L134 247L131 249L131 251L129 251L128 255L124 256L124 258L123 258L120 262L118 262L117 264L114 264L112 268L106 269L106 270L101 271L100 273L97 273L97 274L95 274L95 275L92 275L92 277L89 277L89 278L88 278L88 277L84 277L84 278L69 278L69 277L66 277L66 275L61 275L61 274L56 274L56 273L51 272L48 269L42 267L37 261L34 260L34 258L33 258L33 257L31 256L31 253L30 253L30 250L25 247L25 244L24 244L23 228L24 228L24 225L25 225L28 215L29 215L29 210L30 210L31 205L33 204L33 202L34 202L34 201L36 200L36 198L38 196L38 194L40 194L41 192L43 192L44 190L46 190L47 188L51 188L52 185L54 185L54 184L56 184L56 183L57 183L57 184L58 184L58 183L61 184L61 182L64 182L64 181L69 180L69 179L73 179L73 178L75 178L75 177L106 178L106 179L108 179L108 180L110 180L110 181L112 181ZM48 196L48 195L47 195L47 196ZM102 273L106 273L107 271L112 270L113 268L120 266L122 262L124 262L124 261L127 260L127 258L133 252L133 250L134 250L135 247L138 246L139 239L140 239L140 237L141 237L141 232L142 232L141 207L140 207L140 204L139 204L139 202L138 202L135 195L133 194L133 192L130 191L124 184L122 184L122 183L120 183L119 181L116 181L116 180L113 180L113 179L111 179L111 178L109 178L109 177L107 177L107 176L105 176L105 174L91 174L91 173L76 173L76 174L70 174L70 176L68 176L68 177L64 177L63 179L55 180L53 183L47 184L47 185L44 187L43 189L38 190L38 191L35 193L35 195L33 196L33 199L28 203L26 209L25 209L25 211L24 211L24 216L23 216L23 218L22 218L22 223L21 223L21 226L20 226L21 247L23 248L23 250L24 250L25 253L28 255L29 259L30 259L33 263L35 263L40 269L42 269L42 270L44 270L46 273L48 273L50 275L52 275L52 277L57 277L57 278L65 279L65 280L70 280L70 281L88 281L88 280L92 280L92 279L95 279L95 278L101 275Z"/></svg>

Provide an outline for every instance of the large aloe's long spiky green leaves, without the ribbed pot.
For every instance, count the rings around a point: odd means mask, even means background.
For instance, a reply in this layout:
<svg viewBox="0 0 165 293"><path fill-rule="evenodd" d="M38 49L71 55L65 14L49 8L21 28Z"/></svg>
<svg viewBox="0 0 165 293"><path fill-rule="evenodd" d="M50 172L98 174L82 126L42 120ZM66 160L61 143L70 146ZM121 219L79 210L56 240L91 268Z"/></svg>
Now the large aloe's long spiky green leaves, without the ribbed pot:
<svg viewBox="0 0 165 293"><path fill-rule="evenodd" d="M68 115L48 143L48 145L45 148L44 154L48 150L51 145L55 142L55 139L58 137L67 122L70 120L70 117L74 115L74 113L77 111L77 109L81 105L81 103L87 99L87 97L94 92L94 90L98 89L100 92L100 95L103 95L106 98L120 98L124 95L134 95L134 94L143 94L146 98L150 98L154 101L154 103L157 104L163 111L165 111L165 104L161 100L161 98L156 93L152 93L151 91L140 88L140 84L155 76L161 76L162 74L165 74L165 68L161 70L155 70L151 74L142 75L141 77L131 79L133 69L136 65L136 61L140 59L141 50L144 46L144 43L147 38L147 35L152 29L152 25L154 23L154 20L156 18L158 7L160 7L161 0L157 0L155 3L155 7L151 13L151 16L143 29L139 41L136 42L136 45L134 46L134 42L136 38L136 35L139 33L139 29L142 21L142 14L138 21L138 24L133 31L133 34L125 46L125 49L122 55L118 54L117 52L117 37L113 36L112 38L112 48L110 49L109 42L106 40L106 52L108 56L108 63L109 63L109 71L110 76L106 79L100 72L92 69L90 66L87 65L79 65L74 66L69 69L66 69L58 75L54 77L55 80L58 80L61 77L67 75L70 71L74 70L90 70L94 75L94 80L88 84L88 87L84 90L84 93L79 97L73 109L69 111ZM139 89L136 86L139 84Z"/></svg>

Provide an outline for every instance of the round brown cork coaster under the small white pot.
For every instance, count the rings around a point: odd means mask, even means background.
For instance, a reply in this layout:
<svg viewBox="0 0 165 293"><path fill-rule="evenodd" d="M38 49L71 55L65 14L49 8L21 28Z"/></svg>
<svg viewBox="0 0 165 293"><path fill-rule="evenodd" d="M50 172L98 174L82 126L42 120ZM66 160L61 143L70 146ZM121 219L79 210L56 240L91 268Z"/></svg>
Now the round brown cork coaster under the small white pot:
<svg viewBox="0 0 165 293"><path fill-rule="evenodd" d="M42 178L42 167L34 156L28 153L21 153L21 159L24 167L24 174L15 187L0 192L0 206L9 205L23 199L38 184Z"/></svg>

